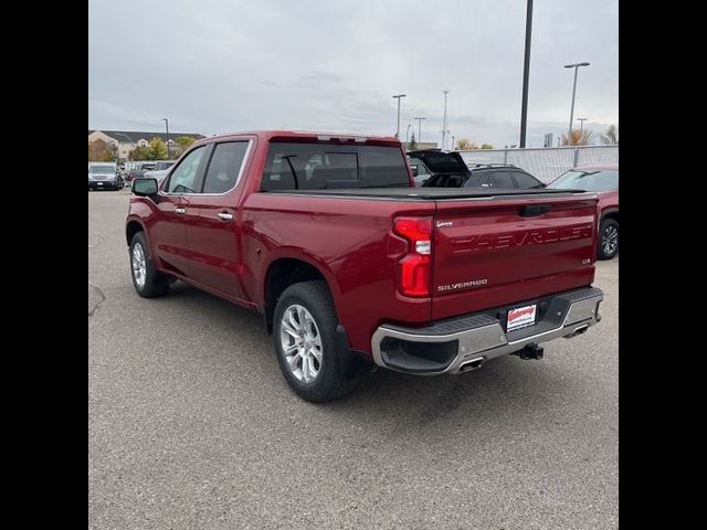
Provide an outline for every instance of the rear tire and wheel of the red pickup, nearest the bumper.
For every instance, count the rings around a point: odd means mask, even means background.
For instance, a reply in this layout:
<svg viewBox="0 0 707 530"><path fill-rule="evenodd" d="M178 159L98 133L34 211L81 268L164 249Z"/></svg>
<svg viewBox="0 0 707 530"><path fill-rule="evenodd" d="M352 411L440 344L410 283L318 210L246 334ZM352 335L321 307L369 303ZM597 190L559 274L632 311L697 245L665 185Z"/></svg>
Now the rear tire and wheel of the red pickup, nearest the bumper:
<svg viewBox="0 0 707 530"><path fill-rule="evenodd" d="M273 320L277 362L289 386L313 403L333 401L358 382L345 374L337 351L338 318L325 282L291 285L279 297Z"/></svg>

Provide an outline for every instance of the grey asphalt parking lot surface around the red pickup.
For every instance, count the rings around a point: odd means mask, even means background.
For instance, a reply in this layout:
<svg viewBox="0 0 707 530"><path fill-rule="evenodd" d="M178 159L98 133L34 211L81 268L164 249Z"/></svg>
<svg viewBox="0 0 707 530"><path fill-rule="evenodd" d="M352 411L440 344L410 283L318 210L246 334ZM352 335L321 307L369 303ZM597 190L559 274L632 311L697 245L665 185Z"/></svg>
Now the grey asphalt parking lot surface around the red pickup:
<svg viewBox="0 0 707 530"><path fill-rule="evenodd" d="M541 361L379 370L314 405L257 315L135 294L128 198L88 193L89 528L618 528L618 257L601 324Z"/></svg>

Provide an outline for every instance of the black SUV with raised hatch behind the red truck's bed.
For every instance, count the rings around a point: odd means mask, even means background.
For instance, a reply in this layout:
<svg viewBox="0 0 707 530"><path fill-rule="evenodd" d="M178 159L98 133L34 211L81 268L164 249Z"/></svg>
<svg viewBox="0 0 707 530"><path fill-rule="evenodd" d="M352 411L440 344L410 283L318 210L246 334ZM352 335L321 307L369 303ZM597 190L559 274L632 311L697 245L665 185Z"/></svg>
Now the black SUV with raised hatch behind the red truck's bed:
<svg viewBox="0 0 707 530"><path fill-rule="evenodd" d="M415 183L425 188L545 188L542 182L520 168L503 163L466 165L456 151L410 151L408 157Z"/></svg>

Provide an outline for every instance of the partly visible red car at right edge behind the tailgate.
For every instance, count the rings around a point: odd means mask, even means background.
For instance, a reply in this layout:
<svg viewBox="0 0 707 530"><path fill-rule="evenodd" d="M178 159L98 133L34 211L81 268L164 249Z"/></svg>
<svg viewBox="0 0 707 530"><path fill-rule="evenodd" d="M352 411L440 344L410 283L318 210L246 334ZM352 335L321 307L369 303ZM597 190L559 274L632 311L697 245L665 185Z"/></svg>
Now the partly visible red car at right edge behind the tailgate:
<svg viewBox="0 0 707 530"><path fill-rule="evenodd" d="M601 208L599 259L619 253L619 163L594 163L572 168L548 188L593 191Z"/></svg>

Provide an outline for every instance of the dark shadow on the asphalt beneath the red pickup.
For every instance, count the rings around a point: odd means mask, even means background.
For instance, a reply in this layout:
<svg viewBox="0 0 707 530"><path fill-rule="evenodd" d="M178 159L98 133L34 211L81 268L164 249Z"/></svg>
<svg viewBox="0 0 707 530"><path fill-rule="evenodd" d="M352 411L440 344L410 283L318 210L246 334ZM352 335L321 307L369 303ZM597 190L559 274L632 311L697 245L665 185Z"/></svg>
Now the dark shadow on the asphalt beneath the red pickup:
<svg viewBox="0 0 707 530"><path fill-rule="evenodd" d="M239 385L263 386L275 401L286 402L309 414L336 415L349 424L379 426L388 438L404 436L410 430L436 428L446 423L464 424L513 421L534 423L538 415L552 415L561 409L568 393L589 384L568 375L558 365L561 346L547 348L540 361L524 361L503 357L482 369L461 375L414 377L379 369L361 377L358 388L349 395L325 404L312 404L298 399L285 382L275 359L272 337L265 333L260 315L211 296L182 283L172 286L170 294L158 300L179 311L200 315L209 322L209 333L220 343L233 348L213 349L219 370L226 372ZM165 308L165 315L171 312ZM160 311L161 312L161 311ZM234 351L240 348L242 351ZM561 342L560 342L561 344ZM204 343L204 348L210 348ZM549 351L548 351L549 350ZM189 356L188 351L182 354ZM250 380L239 380L243 359L250 362ZM238 390L241 390L238 389ZM245 389L249 390L249 389ZM253 395L252 403L240 401L234 406L263 406Z"/></svg>

